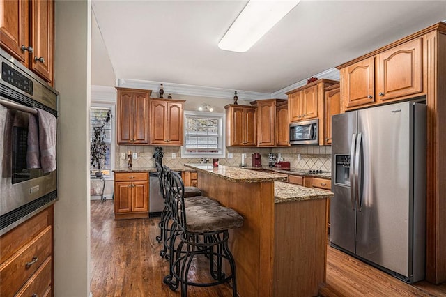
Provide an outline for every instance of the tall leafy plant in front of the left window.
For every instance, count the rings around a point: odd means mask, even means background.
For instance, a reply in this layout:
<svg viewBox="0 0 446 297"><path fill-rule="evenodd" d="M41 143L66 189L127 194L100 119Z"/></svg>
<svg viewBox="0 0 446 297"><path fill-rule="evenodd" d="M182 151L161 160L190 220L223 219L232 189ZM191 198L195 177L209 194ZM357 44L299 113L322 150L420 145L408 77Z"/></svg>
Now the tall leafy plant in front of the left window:
<svg viewBox="0 0 446 297"><path fill-rule="evenodd" d="M109 148L105 144L105 127L107 127L112 119L112 109L109 109L104 121L96 127L93 127L93 137L90 144L90 165L91 168L98 169L95 172L96 177L102 176L101 167L105 164L105 155Z"/></svg>

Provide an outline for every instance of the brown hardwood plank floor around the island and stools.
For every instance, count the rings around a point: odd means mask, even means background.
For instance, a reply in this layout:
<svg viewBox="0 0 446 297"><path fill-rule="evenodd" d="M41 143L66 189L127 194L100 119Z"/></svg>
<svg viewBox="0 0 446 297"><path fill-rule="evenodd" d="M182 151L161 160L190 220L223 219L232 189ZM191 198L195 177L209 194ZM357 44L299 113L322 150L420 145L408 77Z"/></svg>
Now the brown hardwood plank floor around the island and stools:
<svg viewBox="0 0 446 297"><path fill-rule="evenodd" d="M91 201L91 291L102 296L180 296L162 278L169 265L157 243L158 218L114 220L113 201ZM411 286L347 254L328 247L327 282L321 296L446 296L446 283ZM195 280L207 279L206 260L194 262ZM203 269L200 269L203 268ZM231 296L231 287L190 287L189 296ZM281 296L282 297L282 296ZM284 296L288 297L288 296Z"/></svg>

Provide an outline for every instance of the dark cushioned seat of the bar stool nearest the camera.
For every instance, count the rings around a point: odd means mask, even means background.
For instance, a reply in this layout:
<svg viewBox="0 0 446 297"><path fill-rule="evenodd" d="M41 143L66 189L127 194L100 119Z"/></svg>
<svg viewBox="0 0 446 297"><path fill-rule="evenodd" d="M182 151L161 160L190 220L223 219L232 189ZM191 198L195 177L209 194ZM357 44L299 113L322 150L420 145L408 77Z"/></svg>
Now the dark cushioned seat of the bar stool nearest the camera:
<svg viewBox="0 0 446 297"><path fill-rule="evenodd" d="M194 206L185 209L189 232L214 232L240 228L243 217L231 208L220 205Z"/></svg>

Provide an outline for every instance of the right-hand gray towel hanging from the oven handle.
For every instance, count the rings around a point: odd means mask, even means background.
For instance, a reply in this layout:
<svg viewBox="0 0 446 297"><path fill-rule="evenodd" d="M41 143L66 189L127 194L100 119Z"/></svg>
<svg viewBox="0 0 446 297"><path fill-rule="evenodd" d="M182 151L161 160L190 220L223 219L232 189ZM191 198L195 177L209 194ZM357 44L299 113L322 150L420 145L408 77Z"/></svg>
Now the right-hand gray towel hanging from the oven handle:
<svg viewBox="0 0 446 297"><path fill-rule="evenodd" d="M43 109L37 109L39 117L39 148L40 165L43 172L53 172L56 170L56 117L45 112Z"/></svg>

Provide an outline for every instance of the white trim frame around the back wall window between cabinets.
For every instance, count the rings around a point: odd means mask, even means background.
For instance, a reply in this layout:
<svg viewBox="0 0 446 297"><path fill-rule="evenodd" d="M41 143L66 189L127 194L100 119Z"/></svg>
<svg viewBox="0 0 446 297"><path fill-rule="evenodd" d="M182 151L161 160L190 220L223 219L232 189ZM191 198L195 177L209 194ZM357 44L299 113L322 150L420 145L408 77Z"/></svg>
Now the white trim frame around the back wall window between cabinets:
<svg viewBox="0 0 446 297"><path fill-rule="evenodd" d="M185 110L184 112L184 129L186 129L187 116L205 116L219 121L220 130L222 133L222 153L187 153L185 146L181 146L181 158L226 158L226 114L218 112L194 112ZM186 132L184 130L184 134Z"/></svg>

